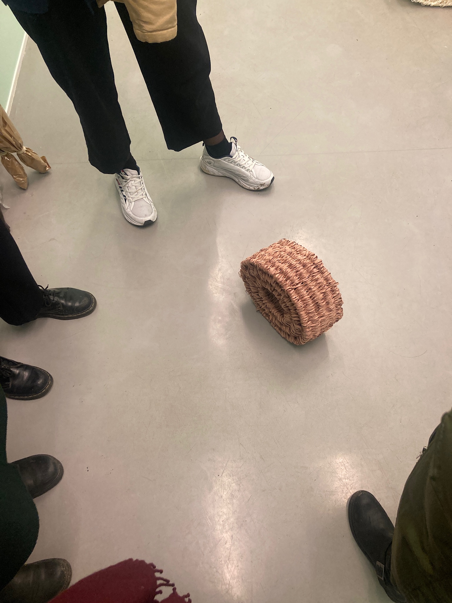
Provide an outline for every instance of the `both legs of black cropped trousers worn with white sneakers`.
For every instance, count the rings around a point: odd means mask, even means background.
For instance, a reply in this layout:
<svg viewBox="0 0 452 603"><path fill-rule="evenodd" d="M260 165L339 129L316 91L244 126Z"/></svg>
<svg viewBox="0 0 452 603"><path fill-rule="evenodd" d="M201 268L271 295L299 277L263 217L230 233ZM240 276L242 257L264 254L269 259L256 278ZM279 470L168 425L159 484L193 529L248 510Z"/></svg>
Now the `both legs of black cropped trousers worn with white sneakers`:
<svg viewBox="0 0 452 603"><path fill-rule="evenodd" d="M210 83L206 38L196 0L178 0L177 36L140 42L124 4L115 3L162 125L169 149L181 151L219 134L221 120ZM104 8L85 0L49 0L49 10L13 10L36 42L57 84L74 103L90 163L114 174L130 156L130 137L118 103ZM55 124L58 127L58 124Z"/></svg>

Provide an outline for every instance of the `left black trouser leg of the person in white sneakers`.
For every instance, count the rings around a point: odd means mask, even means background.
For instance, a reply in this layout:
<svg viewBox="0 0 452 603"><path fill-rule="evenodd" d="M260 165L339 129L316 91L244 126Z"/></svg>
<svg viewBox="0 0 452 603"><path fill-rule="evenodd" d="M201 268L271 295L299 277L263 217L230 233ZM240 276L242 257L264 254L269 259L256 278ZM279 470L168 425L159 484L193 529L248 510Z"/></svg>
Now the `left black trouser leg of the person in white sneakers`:
<svg viewBox="0 0 452 603"><path fill-rule="evenodd" d="M74 103L89 162L104 174L119 172L130 155L130 137L118 103L104 8L94 4L92 12L86 0L49 0L44 14L13 13Z"/></svg>

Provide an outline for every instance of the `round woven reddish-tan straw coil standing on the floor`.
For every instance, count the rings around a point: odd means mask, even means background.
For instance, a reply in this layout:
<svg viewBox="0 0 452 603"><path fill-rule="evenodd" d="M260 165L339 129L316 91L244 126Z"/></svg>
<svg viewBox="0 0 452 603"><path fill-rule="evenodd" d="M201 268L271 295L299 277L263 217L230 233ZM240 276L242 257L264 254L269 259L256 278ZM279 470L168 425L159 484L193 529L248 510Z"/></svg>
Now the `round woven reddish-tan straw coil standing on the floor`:
<svg viewBox="0 0 452 603"><path fill-rule="evenodd" d="M257 310L287 341L301 346L342 318L342 297L322 260L281 239L240 264Z"/></svg>

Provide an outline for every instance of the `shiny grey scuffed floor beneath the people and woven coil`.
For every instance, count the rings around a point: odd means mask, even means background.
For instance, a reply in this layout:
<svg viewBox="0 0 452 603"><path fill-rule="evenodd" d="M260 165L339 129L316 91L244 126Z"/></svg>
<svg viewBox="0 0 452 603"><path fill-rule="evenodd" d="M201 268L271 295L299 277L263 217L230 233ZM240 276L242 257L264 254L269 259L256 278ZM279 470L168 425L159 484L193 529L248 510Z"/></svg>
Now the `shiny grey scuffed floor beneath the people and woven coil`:
<svg viewBox="0 0 452 603"><path fill-rule="evenodd" d="M159 219L121 215L77 115L29 40L11 117L48 175L5 212L37 282L80 321L0 324L1 354L50 371L8 402L8 458L64 464L37 502L31 560L79 579L128 557L194 603L383 603L345 505L395 519L451 406L452 10L409 0L201 0L228 136L275 174L250 193L168 151L113 5L132 152ZM315 251L344 318L303 347L257 314L240 261L280 238Z"/></svg>

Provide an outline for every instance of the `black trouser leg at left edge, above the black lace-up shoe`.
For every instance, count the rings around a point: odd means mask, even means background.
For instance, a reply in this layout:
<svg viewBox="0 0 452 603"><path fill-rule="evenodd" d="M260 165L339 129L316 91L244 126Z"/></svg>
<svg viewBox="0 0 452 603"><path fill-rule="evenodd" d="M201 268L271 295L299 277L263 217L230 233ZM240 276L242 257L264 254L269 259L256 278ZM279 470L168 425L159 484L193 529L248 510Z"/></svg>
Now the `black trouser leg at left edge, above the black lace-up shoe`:
<svg viewBox="0 0 452 603"><path fill-rule="evenodd" d="M13 236L0 220L0 318L9 324L34 320L42 308L37 286Z"/></svg>

